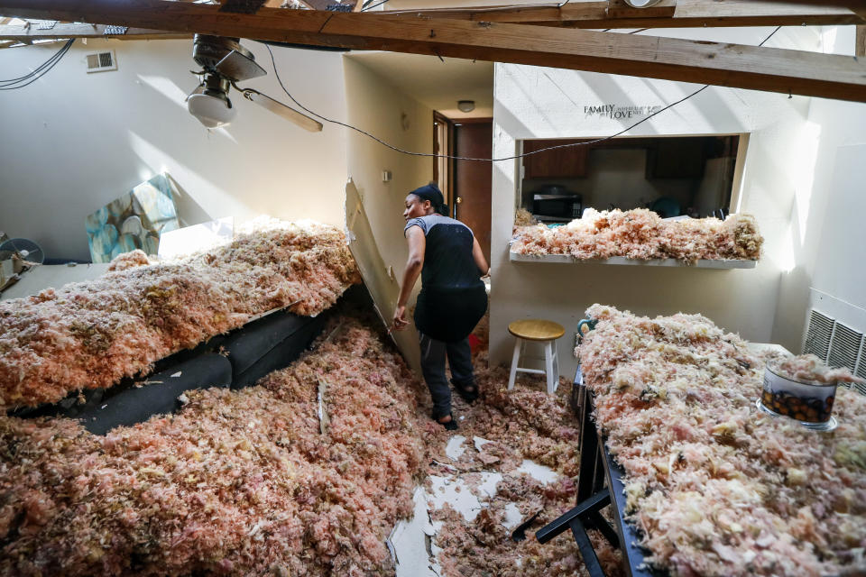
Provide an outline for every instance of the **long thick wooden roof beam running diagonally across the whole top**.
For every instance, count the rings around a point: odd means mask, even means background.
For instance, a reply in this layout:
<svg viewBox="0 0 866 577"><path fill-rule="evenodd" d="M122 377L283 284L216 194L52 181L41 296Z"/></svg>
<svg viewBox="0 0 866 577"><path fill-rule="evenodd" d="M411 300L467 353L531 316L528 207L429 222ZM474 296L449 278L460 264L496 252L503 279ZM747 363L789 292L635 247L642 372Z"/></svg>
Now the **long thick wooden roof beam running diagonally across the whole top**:
<svg viewBox="0 0 866 577"><path fill-rule="evenodd" d="M218 5L162 0L0 0L0 15L512 62L866 102L866 62L800 50L370 12L262 8L257 14L224 14Z"/></svg>

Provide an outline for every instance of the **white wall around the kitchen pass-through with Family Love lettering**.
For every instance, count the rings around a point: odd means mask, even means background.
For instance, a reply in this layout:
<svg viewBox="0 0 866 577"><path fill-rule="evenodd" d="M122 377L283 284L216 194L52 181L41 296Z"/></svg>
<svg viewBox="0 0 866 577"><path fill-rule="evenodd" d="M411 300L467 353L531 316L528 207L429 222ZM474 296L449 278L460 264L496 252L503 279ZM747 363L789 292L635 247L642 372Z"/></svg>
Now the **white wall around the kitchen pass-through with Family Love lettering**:
<svg viewBox="0 0 866 577"><path fill-rule="evenodd" d="M757 44L766 29L658 31L701 40ZM769 46L819 50L814 29L784 29ZM493 153L509 156L523 138L598 137L634 121L585 117L584 105L666 105L700 85L569 70L498 64L494 81ZM509 361L506 327L541 317L565 325L560 370L576 367L571 348L577 321L594 302L640 315L703 313L752 341L769 341L782 270L788 267L788 224L795 201L797 162L807 155L809 98L710 87L631 131L631 135L751 133L742 185L743 212L755 215L766 239L753 270L698 270L508 261L514 210L514 161L493 170L493 293L491 362ZM780 339L789 344L788 335Z"/></svg>

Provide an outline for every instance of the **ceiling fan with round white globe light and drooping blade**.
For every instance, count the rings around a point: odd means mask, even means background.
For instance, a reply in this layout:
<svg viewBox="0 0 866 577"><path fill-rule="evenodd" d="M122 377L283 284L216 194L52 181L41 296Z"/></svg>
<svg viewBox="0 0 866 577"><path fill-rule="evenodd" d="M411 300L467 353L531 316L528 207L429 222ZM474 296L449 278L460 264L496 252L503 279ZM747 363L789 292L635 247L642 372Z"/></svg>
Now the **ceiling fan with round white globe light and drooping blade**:
<svg viewBox="0 0 866 577"><path fill-rule="evenodd" d="M301 114L258 90L237 86L237 82L267 74L255 63L253 53L241 46L239 38L196 34L192 42L192 58L202 68L193 72L201 77L201 81L187 96L187 108L189 114L198 118L207 128L225 126L235 119L237 109L228 98L229 89L235 87L247 100L267 108L272 113L280 114L311 133L322 130L322 124L308 115Z"/></svg>

